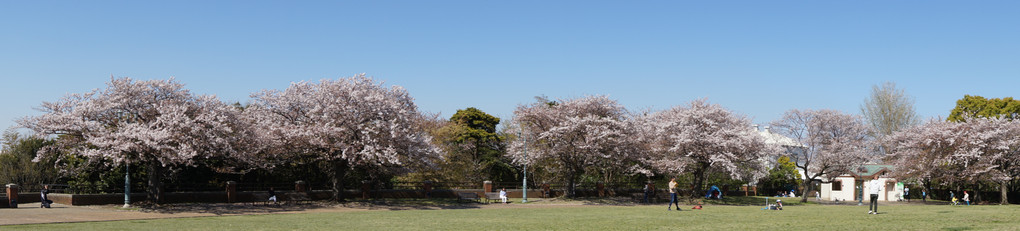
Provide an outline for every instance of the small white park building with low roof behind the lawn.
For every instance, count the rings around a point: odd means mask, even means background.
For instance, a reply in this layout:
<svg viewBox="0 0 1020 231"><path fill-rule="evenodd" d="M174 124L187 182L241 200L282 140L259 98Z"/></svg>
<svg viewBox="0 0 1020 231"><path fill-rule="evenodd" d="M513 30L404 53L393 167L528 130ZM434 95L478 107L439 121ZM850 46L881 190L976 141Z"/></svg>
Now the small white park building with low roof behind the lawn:
<svg viewBox="0 0 1020 231"><path fill-rule="evenodd" d="M895 201L903 198L903 184L896 178L886 177L895 168L889 165L864 165L852 171L833 178L829 182L821 183L821 199L827 201L834 200L857 200L860 193L863 193L864 201L869 201L871 181L875 175L879 176L877 181L881 181L883 189L878 193L879 201ZM861 188L863 187L863 191Z"/></svg>

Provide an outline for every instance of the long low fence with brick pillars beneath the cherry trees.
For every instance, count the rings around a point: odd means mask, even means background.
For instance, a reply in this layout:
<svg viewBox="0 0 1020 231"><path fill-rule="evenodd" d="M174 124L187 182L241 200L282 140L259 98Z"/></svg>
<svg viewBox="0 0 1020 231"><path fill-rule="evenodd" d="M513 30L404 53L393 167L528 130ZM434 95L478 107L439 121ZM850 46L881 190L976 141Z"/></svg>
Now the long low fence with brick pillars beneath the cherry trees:
<svg viewBox="0 0 1020 231"><path fill-rule="evenodd" d="M564 196L566 185L552 183L528 182L528 197L559 197ZM575 185L577 197L631 197L635 200L644 196L644 182L608 182L578 183ZM21 187L18 194L19 202L39 202L41 185ZM724 195L745 194L737 191L740 186L723 185ZM79 193L67 185L51 185L53 193L50 198L58 203L71 205L116 204L122 203L122 192ZM164 189L162 202L254 202L268 199L268 191L272 189L285 197L302 198L302 200L329 199L333 196L332 185L327 182L225 182L222 184L204 184L192 186L172 186ZM389 199L389 198L458 198L460 193L476 193L478 197L492 196L500 189L506 189L509 197L522 197L525 190L522 182L372 182L363 181L360 185L345 185L342 196L348 199ZM131 200L147 199L145 188L132 188ZM488 193L488 195L487 195ZM682 191L683 195L692 195L691 190ZM656 197L668 196L665 185L656 185L652 193ZM4 204L0 204L3 206Z"/></svg>

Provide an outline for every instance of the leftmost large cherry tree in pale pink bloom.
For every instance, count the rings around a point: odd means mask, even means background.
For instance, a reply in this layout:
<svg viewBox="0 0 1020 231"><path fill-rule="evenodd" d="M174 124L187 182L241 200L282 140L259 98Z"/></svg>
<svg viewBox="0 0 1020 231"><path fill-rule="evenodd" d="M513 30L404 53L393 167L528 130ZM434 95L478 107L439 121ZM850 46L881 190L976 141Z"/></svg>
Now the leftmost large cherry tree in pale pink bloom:
<svg viewBox="0 0 1020 231"><path fill-rule="evenodd" d="M148 199L159 202L166 170L230 156L248 159L251 131L236 107L195 95L169 80L112 79L106 89L43 102L45 113L18 121L54 145L37 159L66 151L108 166L148 168Z"/></svg>

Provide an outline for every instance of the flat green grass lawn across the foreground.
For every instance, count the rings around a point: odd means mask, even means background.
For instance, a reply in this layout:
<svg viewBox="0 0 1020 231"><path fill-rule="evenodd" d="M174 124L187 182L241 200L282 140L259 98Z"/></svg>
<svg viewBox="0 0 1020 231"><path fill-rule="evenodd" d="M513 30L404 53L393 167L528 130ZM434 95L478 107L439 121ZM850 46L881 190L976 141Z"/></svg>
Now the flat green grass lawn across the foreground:
<svg viewBox="0 0 1020 231"><path fill-rule="evenodd" d="M1020 205L508 205L5 226L3 230L1020 230Z"/></svg>

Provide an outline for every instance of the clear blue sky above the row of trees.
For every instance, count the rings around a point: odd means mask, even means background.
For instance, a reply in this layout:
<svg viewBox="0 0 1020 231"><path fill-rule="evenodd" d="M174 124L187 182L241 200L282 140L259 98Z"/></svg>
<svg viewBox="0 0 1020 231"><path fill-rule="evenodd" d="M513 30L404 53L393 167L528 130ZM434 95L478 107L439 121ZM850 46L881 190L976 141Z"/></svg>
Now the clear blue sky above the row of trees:
<svg viewBox="0 0 1020 231"><path fill-rule="evenodd" d="M365 3L367 2L367 3ZM859 113L891 81L924 118L1020 96L1020 1L0 1L0 129L110 76L225 101L365 73L425 111L533 96L632 110L707 97L756 123Z"/></svg>

